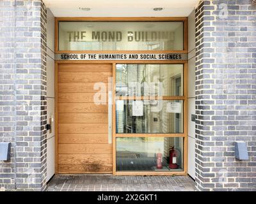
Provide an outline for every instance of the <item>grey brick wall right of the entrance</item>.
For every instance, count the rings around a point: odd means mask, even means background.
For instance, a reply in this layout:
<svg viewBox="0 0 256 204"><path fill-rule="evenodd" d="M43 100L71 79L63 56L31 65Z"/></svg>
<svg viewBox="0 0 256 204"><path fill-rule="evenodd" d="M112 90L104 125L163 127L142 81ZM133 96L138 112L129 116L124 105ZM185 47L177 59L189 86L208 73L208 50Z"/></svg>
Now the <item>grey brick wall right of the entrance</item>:
<svg viewBox="0 0 256 204"><path fill-rule="evenodd" d="M196 189L256 191L256 6L196 8ZM234 157L245 141L248 161Z"/></svg>

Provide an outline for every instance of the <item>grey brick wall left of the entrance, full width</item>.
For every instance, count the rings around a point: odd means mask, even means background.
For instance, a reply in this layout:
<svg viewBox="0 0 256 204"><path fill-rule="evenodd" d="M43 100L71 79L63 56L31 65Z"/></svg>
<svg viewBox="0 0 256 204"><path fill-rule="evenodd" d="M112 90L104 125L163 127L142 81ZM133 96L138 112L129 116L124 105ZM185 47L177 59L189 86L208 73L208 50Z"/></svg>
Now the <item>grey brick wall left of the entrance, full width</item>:
<svg viewBox="0 0 256 204"><path fill-rule="evenodd" d="M46 10L42 1L0 1L0 189L45 189Z"/></svg>

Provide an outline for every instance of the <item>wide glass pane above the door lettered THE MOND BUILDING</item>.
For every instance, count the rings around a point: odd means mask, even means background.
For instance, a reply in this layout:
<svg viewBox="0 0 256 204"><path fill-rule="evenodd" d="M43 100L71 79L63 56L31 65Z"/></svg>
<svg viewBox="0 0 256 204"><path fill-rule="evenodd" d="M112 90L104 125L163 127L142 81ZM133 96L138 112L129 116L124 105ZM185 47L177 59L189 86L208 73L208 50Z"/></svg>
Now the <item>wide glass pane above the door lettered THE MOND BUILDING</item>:
<svg viewBox="0 0 256 204"><path fill-rule="evenodd" d="M183 22L59 22L59 50L183 50Z"/></svg>

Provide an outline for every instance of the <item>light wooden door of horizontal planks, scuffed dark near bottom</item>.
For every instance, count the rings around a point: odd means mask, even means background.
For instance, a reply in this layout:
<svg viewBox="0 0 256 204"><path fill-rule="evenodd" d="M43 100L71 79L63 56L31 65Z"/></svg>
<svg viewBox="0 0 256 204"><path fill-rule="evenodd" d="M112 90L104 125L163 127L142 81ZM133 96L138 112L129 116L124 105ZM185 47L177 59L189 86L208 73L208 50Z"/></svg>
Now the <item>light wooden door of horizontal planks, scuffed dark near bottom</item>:
<svg viewBox="0 0 256 204"><path fill-rule="evenodd" d="M112 173L108 103L93 102L109 77L112 64L58 64L58 173Z"/></svg>

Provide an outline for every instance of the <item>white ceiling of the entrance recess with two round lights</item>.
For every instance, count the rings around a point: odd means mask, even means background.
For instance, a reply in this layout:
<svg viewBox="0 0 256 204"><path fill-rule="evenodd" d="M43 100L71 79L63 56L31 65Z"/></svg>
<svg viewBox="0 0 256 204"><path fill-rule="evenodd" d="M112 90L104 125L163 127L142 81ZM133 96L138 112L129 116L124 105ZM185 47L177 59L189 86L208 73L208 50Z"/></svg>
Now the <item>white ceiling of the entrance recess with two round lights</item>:
<svg viewBox="0 0 256 204"><path fill-rule="evenodd" d="M188 17L199 0L43 0L55 17ZM79 10L91 8L90 11ZM163 7L162 11L152 8Z"/></svg>

